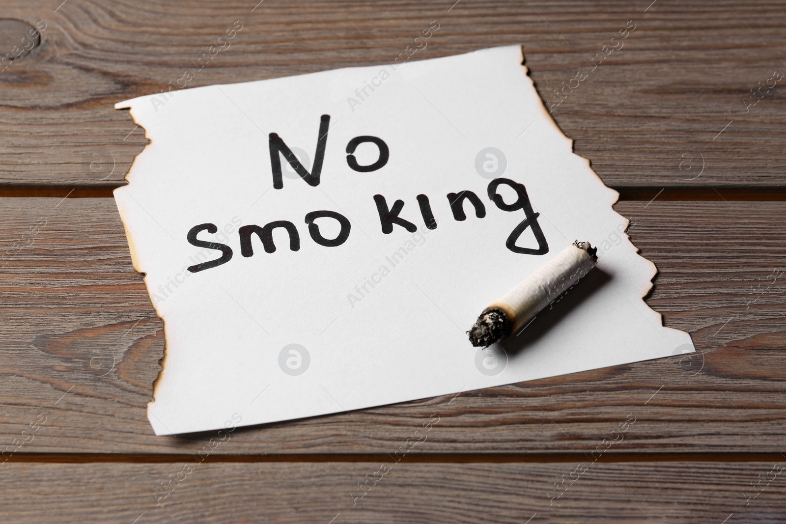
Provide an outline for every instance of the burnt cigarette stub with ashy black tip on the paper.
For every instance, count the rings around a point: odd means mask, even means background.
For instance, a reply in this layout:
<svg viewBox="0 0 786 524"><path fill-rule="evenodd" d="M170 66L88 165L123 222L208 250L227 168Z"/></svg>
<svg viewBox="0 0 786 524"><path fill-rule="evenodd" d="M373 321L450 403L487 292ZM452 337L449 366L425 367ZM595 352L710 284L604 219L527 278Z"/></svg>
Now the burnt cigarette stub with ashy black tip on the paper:
<svg viewBox="0 0 786 524"><path fill-rule="evenodd" d="M519 331L545 306L578 282L597 263L597 247L579 242L554 258L488 306L467 333L472 346L487 347Z"/></svg>

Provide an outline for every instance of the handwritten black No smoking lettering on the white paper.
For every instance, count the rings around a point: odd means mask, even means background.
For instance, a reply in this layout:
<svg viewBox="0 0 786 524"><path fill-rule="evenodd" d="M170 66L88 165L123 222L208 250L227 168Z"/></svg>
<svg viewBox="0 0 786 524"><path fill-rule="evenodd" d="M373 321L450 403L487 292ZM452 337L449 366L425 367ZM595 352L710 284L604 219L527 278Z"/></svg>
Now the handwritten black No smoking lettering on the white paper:
<svg viewBox="0 0 786 524"><path fill-rule="evenodd" d="M292 152L292 149L286 145L285 141L279 137L278 134L270 133L268 145L270 149L270 168L272 171L271 174L273 176L274 189L284 189L284 178L281 171L281 156L284 157L292 169L295 170L299 177L302 178L303 181L305 181L308 185L311 187L316 187L319 185L322 163L325 160L325 149L327 147L328 131L330 129L329 124L330 115L321 115L317 148L316 152L314 153L314 165L311 167L310 171L303 166L303 163L300 162L298 157L295 156L295 154ZM374 163L361 164L358 163L358 159L354 156L354 152L358 148L358 145L366 142L376 146L377 150L379 151L379 156ZM347 165L351 168L351 170L357 171L358 173L369 173L380 170L385 166L385 164L387 164L387 160L390 158L390 149L387 147L385 141L380 137L368 135L352 138L349 142L347 142L346 152ZM512 189L512 191L515 192L515 201L512 201L511 203L505 202L501 194L498 192L498 189L501 185L508 186L509 189ZM527 195L527 189L523 184L520 184L519 182L513 181L509 178L494 178L494 180L490 181L487 187L487 196L489 200L491 200L491 202L493 202L494 205L501 211L523 211L524 213L523 220L518 225L516 225L516 228L512 230L508 236L508 239L505 241L505 247L514 253L523 255L545 255L549 252L549 244L547 244L545 235L538 224L538 216L540 216L540 213L536 213L532 209L530 198ZM483 200L481 200L475 192L468 190L449 192L447 193L446 197L448 203L450 203L450 211L457 222L463 222L467 219L467 214L464 209L465 202L468 202L472 205L474 208L473 211L475 211L475 216L477 218L483 218L486 216L486 206L483 204ZM434 212L432 211L432 206L428 200L428 196L423 194L417 195L416 200L417 205L420 208L421 217L423 218L425 227L427 229L436 229L437 220L434 216ZM377 214L379 214L382 233L386 235L393 233L394 226L399 226L402 229L406 229L406 231L410 233L415 233L417 231L417 225L400 216L402 213L402 208L404 207L403 200L395 200L392 206L388 206L385 197L383 195L377 194L373 196L373 203L376 205ZM319 224L316 221L324 221L325 219L335 220L340 226L340 231L335 238L326 238L320 232ZM305 215L305 222L311 240L314 240L314 243L325 247L340 246L347 241L351 231L351 223L349 219L337 211L310 211ZM240 236L241 255L244 257L251 257L254 255L254 246L252 244L252 238L254 236L259 238L259 242L262 243L262 247L266 253L274 253L277 247L274 244L273 239L274 229L284 229L289 236L289 249L291 251L299 251L300 235L296 225L292 222L289 222L288 220L277 220L274 222L268 222L266 225L262 226L255 224L242 226L238 231ZM534 239L537 240L537 248L520 247L516 245L516 241L519 240L519 237L527 229L531 229ZM213 242L210 240L201 240L198 238L197 236L203 231L215 234L218 231L218 227L210 222L194 225L193 228L191 228L186 234L186 239L189 241L189 244L196 247L206 247L211 250L221 251L222 255L219 258L215 258L214 260L200 262L194 266L189 266L188 270L191 273L197 273L204 271L205 269L211 269L216 266L226 264L226 262L230 262L230 259L233 256L232 247L228 246L227 244L221 244L219 242Z"/></svg>

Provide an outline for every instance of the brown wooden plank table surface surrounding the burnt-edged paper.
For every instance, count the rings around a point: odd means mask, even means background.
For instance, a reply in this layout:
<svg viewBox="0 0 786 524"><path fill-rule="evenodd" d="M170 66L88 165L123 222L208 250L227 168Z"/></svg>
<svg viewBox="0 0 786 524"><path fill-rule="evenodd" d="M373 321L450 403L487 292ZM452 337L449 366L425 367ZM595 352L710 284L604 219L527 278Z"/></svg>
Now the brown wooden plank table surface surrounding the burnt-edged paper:
<svg viewBox="0 0 786 524"><path fill-rule="evenodd" d="M2 522L784 522L786 4L454 1L3 2ZM191 87L384 64L433 20L413 59L523 46L658 266L647 302L698 353L154 436L163 326L111 198L145 131L113 104L186 69Z"/></svg>

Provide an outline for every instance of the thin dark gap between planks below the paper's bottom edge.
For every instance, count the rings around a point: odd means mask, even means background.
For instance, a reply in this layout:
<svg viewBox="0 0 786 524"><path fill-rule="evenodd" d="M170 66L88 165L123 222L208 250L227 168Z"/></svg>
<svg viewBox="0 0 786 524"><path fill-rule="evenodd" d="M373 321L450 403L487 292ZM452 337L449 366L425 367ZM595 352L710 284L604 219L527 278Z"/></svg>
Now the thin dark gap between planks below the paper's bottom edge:
<svg viewBox="0 0 786 524"><path fill-rule="evenodd" d="M587 453L412 453L408 463L419 464L512 464L512 463L574 463L586 461ZM132 463L168 464L191 460L193 453L16 453L12 463ZM275 453L246 455L216 455L204 459L207 463L260 462L385 462L390 453ZM786 454L771 453L605 453L596 462L780 462Z"/></svg>

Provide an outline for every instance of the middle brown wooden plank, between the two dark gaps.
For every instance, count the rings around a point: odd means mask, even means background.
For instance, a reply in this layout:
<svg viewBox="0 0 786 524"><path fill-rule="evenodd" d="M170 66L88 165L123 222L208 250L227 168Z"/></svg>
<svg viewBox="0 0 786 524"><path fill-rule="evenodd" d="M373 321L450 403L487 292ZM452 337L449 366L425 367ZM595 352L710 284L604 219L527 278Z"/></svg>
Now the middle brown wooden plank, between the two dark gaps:
<svg viewBox="0 0 786 524"><path fill-rule="evenodd" d="M589 453L629 415L615 454L782 451L786 275L773 269L786 268L786 203L615 208L659 268L648 303L699 354L241 428L217 453L391 453L434 413L426 453ZM206 445L215 435L155 437L146 419L163 330L114 202L6 198L0 210L0 444L42 413L19 453Z"/></svg>

